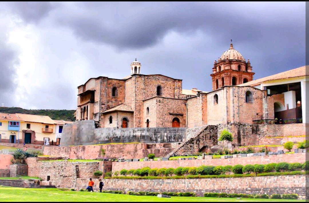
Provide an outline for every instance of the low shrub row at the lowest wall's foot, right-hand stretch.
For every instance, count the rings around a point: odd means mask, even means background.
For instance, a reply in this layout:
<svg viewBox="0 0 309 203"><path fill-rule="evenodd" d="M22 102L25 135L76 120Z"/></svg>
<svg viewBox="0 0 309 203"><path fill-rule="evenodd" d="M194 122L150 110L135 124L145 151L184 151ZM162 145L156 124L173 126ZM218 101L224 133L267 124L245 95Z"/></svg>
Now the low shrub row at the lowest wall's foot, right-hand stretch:
<svg viewBox="0 0 309 203"><path fill-rule="evenodd" d="M227 194L227 193L216 193L216 192L208 192L204 194L204 197L230 197L230 198L236 198L236 197L242 197L242 198L254 198L254 199L290 199L290 200L296 200L298 199L298 194L255 194L255 195L249 195L249 194Z"/></svg>

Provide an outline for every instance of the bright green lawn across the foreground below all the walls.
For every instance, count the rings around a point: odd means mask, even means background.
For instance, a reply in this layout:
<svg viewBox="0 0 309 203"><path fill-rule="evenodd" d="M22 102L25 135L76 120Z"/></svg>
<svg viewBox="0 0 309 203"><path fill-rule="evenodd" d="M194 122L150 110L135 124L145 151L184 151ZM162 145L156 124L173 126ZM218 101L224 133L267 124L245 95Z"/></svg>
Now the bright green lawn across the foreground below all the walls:
<svg viewBox="0 0 309 203"><path fill-rule="evenodd" d="M97 189L95 189L97 191ZM305 200L276 200L276 199L241 199L236 198L214 198L214 197L171 197L171 198L159 198L153 196L134 196L134 195L121 195L121 194L109 194L100 192L76 192L67 191L57 188L47 189L34 189L34 188L11 188L0 187L0 201L91 201L91 202L110 202L110 201L125 201L125 202L154 202L154 201L305 201Z"/></svg>

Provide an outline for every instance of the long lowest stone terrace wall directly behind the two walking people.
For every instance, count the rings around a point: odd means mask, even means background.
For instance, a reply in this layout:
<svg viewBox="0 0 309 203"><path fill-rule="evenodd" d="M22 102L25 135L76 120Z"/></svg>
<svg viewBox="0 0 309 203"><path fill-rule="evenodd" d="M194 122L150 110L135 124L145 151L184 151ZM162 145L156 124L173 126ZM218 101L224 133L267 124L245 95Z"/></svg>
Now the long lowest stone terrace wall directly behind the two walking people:
<svg viewBox="0 0 309 203"><path fill-rule="evenodd" d="M94 180L94 190L98 191L98 180ZM150 191L150 192L205 192L244 194L292 194L305 196L305 175L264 176L245 178L205 178L205 179L156 179L125 180L104 179L104 190ZM76 188L86 188L87 179L79 178Z"/></svg>

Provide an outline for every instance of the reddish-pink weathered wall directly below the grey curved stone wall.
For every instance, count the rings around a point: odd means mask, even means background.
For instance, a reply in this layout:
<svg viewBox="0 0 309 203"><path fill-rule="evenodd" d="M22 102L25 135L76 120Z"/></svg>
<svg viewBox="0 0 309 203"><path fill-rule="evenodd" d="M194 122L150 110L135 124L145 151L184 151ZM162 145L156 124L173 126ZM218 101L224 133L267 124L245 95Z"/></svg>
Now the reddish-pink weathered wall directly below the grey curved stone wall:
<svg viewBox="0 0 309 203"><path fill-rule="evenodd" d="M151 146L151 147L150 147ZM45 147L44 155L68 157L70 159L124 159L143 158L154 153L156 157L164 157L177 145L174 143L127 143L127 144L103 144L83 146ZM105 155L102 155L102 149Z"/></svg>

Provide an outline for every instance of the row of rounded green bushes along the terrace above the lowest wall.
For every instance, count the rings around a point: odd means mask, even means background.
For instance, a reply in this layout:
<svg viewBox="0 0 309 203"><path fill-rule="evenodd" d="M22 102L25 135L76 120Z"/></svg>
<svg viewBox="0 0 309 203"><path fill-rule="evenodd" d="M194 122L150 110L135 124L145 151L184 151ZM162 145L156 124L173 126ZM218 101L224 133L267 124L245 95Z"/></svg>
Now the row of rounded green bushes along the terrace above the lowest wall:
<svg viewBox="0 0 309 203"><path fill-rule="evenodd" d="M200 166L200 167L178 167L174 168L153 168L144 167L142 169L131 169L126 170L122 169L120 171L120 175L127 176L188 176L188 175L230 175L231 172L234 174L251 174L255 173L256 175L259 173L268 173L268 172L285 172L285 171L301 171L301 170L309 170L309 161L306 163L269 163L266 165L263 164L255 164L255 165L235 165L235 166ZM115 171L114 175L118 176L119 172Z"/></svg>

